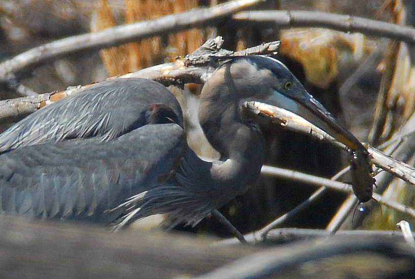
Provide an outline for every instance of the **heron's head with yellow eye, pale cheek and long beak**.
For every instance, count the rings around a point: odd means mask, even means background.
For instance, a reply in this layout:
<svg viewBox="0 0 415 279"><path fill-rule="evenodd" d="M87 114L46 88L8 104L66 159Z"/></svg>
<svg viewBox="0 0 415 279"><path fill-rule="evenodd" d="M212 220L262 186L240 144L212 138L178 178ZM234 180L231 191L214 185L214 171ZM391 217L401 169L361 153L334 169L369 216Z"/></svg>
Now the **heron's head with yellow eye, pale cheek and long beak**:
<svg viewBox="0 0 415 279"><path fill-rule="evenodd" d="M236 57L221 65L205 84L202 98L240 106L259 101L301 116L348 148L365 149L279 60L266 56Z"/></svg>

